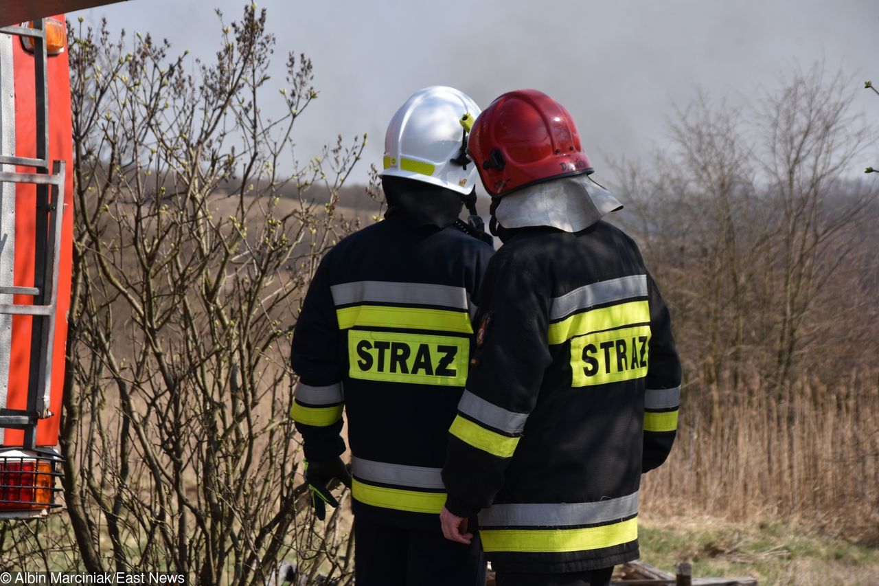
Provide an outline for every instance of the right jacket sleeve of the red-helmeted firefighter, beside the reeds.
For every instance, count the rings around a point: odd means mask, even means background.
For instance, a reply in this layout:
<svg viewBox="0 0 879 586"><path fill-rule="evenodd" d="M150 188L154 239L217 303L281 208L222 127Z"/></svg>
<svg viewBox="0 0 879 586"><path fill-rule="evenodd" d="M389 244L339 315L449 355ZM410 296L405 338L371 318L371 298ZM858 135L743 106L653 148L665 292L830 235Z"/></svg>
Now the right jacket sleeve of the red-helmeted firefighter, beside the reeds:
<svg viewBox="0 0 879 586"><path fill-rule="evenodd" d="M678 432L680 360L672 337L672 319L648 275L650 293L650 358L644 395L642 472L665 462Z"/></svg>

